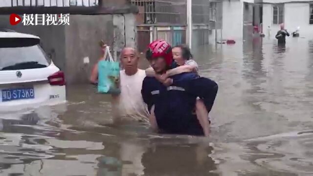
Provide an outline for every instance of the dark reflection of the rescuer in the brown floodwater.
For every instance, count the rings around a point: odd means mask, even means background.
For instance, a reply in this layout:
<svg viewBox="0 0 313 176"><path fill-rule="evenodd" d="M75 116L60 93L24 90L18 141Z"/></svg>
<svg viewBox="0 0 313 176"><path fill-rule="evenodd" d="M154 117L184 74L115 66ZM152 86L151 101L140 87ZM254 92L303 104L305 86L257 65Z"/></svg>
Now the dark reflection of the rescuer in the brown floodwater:
<svg viewBox="0 0 313 176"><path fill-rule="evenodd" d="M156 145L143 154L144 173L148 176L214 176L216 170L212 147L190 144L184 146Z"/></svg>

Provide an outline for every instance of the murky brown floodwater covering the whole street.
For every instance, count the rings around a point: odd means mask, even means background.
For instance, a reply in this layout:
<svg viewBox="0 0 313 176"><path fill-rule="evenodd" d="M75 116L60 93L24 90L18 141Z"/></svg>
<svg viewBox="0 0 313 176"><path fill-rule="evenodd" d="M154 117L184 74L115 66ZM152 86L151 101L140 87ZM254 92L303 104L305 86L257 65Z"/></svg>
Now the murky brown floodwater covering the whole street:
<svg viewBox="0 0 313 176"><path fill-rule="evenodd" d="M287 42L194 50L220 88L209 138L114 125L110 97L89 85L68 87L67 104L1 114L0 175L313 175L313 41Z"/></svg>

